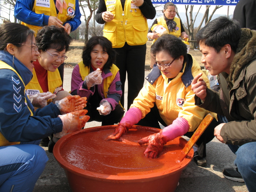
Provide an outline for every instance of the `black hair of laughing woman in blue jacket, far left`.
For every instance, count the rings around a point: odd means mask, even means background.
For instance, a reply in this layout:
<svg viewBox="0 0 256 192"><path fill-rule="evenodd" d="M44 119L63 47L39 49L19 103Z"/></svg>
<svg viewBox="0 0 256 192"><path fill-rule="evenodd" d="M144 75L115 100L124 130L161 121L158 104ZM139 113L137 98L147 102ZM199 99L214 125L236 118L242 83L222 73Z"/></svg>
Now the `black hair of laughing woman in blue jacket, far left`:
<svg viewBox="0 0 256 192"><path fill-rule="evenodd" d="M0 50L5 50L8 43L14 44L18 49L34 35L34 31L19 23L6 23L0 27Z"/></svg>

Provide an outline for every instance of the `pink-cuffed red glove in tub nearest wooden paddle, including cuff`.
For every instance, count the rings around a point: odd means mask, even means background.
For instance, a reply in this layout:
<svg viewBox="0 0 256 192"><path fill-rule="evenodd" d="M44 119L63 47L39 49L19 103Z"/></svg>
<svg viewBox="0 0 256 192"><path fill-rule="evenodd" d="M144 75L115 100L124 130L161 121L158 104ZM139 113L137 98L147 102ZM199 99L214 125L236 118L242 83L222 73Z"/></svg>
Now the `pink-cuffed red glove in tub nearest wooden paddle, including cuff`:
<svg viewBox="0 0 256 192"><path fill-rule="evenodd" d="M154 159L163 151L163 145L178 136L184 135L188 132L188 129L188 121L182 117L178 117L171 125L165 127L159 133L142 138L138 143L140 145L148 143L148 146L144 151L144 155L148 158Z"/></svg>

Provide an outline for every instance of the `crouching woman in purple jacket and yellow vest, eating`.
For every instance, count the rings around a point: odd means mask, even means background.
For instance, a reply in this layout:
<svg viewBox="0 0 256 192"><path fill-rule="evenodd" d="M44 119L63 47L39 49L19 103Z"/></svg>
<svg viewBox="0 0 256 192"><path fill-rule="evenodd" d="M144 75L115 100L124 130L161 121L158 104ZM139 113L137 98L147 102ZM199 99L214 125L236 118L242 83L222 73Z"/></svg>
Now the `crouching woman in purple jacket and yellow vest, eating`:
<svg viewBox="0 0 256 192"><path fill-rule="evenodd" d="M124 114L116 52L106 37L94 36L83 48L82 59L71 78L71 94L87 97L87 115L103 125L119 123Z"/></svg>

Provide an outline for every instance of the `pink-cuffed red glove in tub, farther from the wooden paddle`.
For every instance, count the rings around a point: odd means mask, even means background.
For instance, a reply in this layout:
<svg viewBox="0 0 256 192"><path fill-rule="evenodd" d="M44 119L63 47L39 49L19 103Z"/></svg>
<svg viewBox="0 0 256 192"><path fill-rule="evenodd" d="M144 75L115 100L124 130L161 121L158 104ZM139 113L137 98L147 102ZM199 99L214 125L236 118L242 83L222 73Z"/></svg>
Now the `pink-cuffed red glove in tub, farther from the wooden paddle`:
<svg viewBox="0 0 256 192"><path fill-rule="evenodd" d="M110 140L116 140L119 139L121 137L121 135L127 133L127 131L135 124L137 124L142 117L142 112L136 108L130 108L125 116L122 118L122 120L120 121L120 123L117 125L117 127L115 128L115 131L112 135L109 135L108 138L106 138L106 141L110 141Z"/></svg>

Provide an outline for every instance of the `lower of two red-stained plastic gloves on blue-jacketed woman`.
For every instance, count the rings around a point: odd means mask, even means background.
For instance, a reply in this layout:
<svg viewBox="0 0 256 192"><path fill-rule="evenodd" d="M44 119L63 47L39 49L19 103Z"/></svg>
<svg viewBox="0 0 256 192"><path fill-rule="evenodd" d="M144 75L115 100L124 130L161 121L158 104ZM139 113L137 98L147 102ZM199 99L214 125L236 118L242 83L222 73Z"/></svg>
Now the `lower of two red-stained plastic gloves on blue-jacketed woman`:
<svg viewBox="0 0 256 192"><path fill-rule="evenodd" d="M63 123L63 128L60 133L54 134L54 137L61 138L68 133L79 131L84 127L85 123L90 119L88 115L85 115L88 111L86 109L59 115Z"/></svg>

